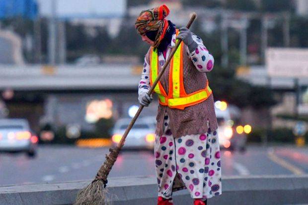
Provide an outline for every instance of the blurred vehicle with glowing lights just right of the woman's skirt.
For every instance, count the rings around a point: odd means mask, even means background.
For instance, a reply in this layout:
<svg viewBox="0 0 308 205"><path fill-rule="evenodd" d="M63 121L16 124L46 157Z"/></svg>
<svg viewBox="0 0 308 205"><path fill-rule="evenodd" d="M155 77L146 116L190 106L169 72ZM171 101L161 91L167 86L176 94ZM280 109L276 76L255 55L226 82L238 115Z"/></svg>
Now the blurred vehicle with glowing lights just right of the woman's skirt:
<svg viewBox="0 0 308 205"><path fill-rule="evenodd" d="M251 132L251 126L240 125L240 110L224 101L215 102L215 112L218 122L218 135L221 147L240 151L246 150L247 134Z"/></svg>

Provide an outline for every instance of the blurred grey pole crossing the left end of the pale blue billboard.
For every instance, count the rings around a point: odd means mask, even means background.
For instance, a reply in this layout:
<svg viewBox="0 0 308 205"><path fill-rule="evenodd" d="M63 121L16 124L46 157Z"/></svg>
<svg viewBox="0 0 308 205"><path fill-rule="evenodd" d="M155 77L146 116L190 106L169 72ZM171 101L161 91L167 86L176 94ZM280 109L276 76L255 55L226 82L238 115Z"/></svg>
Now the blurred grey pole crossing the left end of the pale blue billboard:
<svg viewBox="0 0 308 205"><path fill-rule="evenodd" d="M48 62L50 65L56 64L56 43L57 43L57 0L51 1L51 17L49 19L48 34Z"/></svg>

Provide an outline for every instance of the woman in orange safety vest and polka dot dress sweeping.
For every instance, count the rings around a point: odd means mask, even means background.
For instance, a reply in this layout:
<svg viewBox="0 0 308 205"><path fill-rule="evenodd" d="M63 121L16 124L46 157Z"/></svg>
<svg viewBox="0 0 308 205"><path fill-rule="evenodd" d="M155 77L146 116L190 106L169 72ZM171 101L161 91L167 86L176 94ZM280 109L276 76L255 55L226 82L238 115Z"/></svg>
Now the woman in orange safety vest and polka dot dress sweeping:
<svg viewBox="0 0 308 205"><path fill-rule="evenodd" d="M194 205L222 194L220 147L212 90L205 72L214 65L202 40L189 29L175 29L166 5L144 10L135 23L151 45L139 82L139 102L148 106L148 91L175 46L169 66L154 89L158 95L155 167L158 205L172 205L172 191L187 188Z"/></svg>

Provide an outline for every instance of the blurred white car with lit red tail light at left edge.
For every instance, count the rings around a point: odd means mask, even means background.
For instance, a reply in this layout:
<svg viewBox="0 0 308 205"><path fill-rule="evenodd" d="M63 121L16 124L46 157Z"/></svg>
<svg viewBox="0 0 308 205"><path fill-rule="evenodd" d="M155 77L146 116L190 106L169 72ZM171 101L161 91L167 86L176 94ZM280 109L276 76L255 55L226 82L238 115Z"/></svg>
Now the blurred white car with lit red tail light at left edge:
<svg viewBox="0 0 308 205"><path fill-rule="evenodd" d="M0 119L0 151L25 152L34 157L37 142L26 119Z"/></svg>

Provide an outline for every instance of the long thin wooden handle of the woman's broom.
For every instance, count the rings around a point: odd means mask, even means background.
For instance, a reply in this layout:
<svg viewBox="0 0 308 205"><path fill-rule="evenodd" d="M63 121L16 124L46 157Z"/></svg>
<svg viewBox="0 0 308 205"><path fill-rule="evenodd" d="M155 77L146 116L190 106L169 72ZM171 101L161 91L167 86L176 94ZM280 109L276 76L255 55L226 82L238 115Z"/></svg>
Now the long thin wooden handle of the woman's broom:
<svg viewBox="0 0 308 205"><path fill-rule="evenodd" d="M196 17L197 17L197 14L196 14L195 12L191 13L191 17L190 17L190 19L189 19L189 22L188 22L187 25L186 25L186 28L188 28L188 29L190 28L191 24L194 22L194 20L196 19ZM154 83L153 83L151 89L149 90L149 92L148 92L148 95L149 95L149 96L153 93L154 87L157 85L158 81L160 80L162 74L164 73L165 69L166 69L167 66L169 65L169 63L170 63L170 61L171 61L171 59L172 59L174 53L176 52L177 48L180 46L181 42L182 42L182 40L181 40L181 39L178 39L177 43L175 44L175 47L172 49L172 51L171 51L171 53L170 53L170 55L169 55L167 61L165 62L165 64L164 64L163 67L161 68L161 71L159 72L159 74L158 74L156 80L154 81ZM135 115L134 118L131 120L131 122L130 122L130 124L128 125L128 127L127 127L125 133L123 134L123 136L122 136L120 142L119 142L118 145L117 145L117 147L118 147L119 149L121 149L122 146L124 145L124 142L125 142L125 139L126 139L128 133L131 131L132 127L134 126L134 124L135 124L137 118L139 117L141 111L143 110L143 108L144 108L143 105L140 105L140 106L139 106L139 109L138 109L136 115Z"/></svg>

